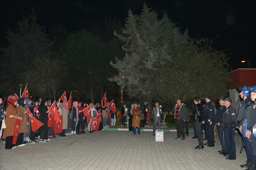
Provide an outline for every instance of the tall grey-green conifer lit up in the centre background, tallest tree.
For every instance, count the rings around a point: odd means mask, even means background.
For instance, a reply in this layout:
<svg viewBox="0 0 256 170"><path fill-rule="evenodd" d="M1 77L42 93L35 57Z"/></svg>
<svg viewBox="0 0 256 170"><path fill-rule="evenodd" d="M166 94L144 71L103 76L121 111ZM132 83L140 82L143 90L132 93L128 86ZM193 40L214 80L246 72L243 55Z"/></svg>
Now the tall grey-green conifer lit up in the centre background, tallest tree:
<svg viewBox="0 0 256 170"><path fill-rule="evenodd" d="M168 53L171 44L178 46L184 44L188 38L188 31L180 33L175 23L165 14L158 19L158 14L144 3L140 15L133 15L128 11L125 28L122 34L114 34L124 42L122 47L125 56L122 60L116 58L116 63L111 65L119 72L110 78L117 82L131 98L151 102L158 100L158 94L153 91L152 85L162 82L156 70L167 67L164 58L175 57Z"/></svg>

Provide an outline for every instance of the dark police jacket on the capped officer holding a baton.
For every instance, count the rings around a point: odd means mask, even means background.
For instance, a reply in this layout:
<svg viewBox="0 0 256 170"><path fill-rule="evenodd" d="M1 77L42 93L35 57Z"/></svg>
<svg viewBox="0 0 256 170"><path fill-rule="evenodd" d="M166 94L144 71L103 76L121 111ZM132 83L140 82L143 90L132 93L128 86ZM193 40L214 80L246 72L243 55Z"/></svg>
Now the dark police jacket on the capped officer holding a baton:
<svg viewBox="0 0 256 170"><path fill-rule="evenodd" d="M231 105L226 108L222 116L223 127L229 127L229 123L234 126L238 125L236 109Z"/></svg>

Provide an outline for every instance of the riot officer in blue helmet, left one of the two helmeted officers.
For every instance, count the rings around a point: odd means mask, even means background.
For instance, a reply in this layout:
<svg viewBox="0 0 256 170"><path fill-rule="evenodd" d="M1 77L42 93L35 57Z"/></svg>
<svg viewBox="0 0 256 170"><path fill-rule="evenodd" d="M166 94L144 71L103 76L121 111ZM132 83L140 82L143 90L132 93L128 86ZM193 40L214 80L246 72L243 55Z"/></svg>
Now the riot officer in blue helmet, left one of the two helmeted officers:
<svg viewBox="0 0 256 170"><path fill-rule="evenodd" d="M237 122L240 122L242 119L247 118L247 107L250 106L252 103L252 101L250 100L249 90L246 91L246 89L249 87L251 87L251 86L243 85L240 88L240 90L241 90L240 96L243 100L241 101L241 104L239 106ZM239 127L239 131L242 133L242 126ZM243 137L243 142L245 140L244 148L245 148L246 155L247 155L247 161L246 161L246 164L240 165L240 167L248 168L252 159L253 160L255 159L255 156L253 155L253 151L252 151L252 142L250 140L248 140L247 137L244 137L244 136L242 136L242 137Z"/></svg>

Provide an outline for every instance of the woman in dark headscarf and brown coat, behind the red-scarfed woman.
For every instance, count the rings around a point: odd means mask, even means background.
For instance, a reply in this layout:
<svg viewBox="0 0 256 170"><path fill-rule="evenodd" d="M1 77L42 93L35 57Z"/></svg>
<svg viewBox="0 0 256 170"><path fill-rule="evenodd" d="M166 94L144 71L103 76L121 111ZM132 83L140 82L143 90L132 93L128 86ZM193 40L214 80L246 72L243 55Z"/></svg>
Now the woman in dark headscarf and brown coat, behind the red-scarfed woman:
<svg viewBox="0 0 256 170"><path fill-rule="evenodd" d="M25 109L25 104L27 101L25 98L18 99L19 106L17 107L17 115L22 117L21 123L20 123L20 133L17 139L16 146L25 146L25 144L28 144L28 141L23 138L24 133L28 133L28 117L27 117L27 110Z"/></svg>

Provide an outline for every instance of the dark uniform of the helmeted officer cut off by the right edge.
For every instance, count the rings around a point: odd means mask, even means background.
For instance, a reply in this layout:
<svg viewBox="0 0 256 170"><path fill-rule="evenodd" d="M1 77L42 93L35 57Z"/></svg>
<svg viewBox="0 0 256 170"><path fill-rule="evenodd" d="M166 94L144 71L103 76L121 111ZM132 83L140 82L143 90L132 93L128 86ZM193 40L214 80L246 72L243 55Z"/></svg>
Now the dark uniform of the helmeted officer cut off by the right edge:
<svg viewBox="0 0 256 170"><path fill-rule="evenodd" d="M256 102L253 102L247 110L247 129L252 132L253 126L256 124ZM255 137L251 136L252 139L252 150L254 156L256 156L256 139ZM253 161L253 160L252 160Z"/></svg>

